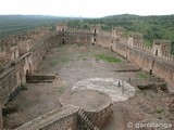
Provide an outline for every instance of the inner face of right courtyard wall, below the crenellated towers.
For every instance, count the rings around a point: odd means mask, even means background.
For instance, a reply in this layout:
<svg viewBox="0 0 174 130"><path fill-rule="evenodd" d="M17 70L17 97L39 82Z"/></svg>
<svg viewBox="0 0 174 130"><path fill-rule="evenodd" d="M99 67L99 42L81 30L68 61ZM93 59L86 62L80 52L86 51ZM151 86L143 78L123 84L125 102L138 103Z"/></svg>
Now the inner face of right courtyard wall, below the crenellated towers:
<svg viewBox="0 0 174 130"><path fill-rule="evenodd" d="M156 56L149 50L144 48L129 47L125 42L114 42L113 51L120 53L130 63L138 65L144 70L163 78L171 84L170 92L174 90L174 64L165 58Z"/></svg>

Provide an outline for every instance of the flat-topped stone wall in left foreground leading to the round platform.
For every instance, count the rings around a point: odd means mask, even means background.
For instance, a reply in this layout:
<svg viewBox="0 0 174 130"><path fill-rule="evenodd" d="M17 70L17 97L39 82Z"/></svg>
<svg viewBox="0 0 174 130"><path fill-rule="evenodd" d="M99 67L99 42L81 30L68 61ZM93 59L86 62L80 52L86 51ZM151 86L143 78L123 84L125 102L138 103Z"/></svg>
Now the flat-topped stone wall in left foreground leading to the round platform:
<svg viewBox="0 0 174 130"><path fill-rule="evenodd" d="M65 106L41 115L16 130L77 130L78 107Z"/></svg>

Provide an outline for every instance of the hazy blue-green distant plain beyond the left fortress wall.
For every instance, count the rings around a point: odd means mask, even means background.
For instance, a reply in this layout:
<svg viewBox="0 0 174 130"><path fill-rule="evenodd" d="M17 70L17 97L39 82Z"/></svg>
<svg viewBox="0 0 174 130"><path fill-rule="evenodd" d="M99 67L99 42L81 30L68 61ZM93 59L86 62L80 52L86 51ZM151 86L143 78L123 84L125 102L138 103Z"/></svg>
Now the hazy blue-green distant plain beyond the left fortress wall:
<svg viewBox="0 0 174 130"><path fill-rule="evenodd" d="M67 17L48 15L0 15L0 38L67 20Z"/></svg>

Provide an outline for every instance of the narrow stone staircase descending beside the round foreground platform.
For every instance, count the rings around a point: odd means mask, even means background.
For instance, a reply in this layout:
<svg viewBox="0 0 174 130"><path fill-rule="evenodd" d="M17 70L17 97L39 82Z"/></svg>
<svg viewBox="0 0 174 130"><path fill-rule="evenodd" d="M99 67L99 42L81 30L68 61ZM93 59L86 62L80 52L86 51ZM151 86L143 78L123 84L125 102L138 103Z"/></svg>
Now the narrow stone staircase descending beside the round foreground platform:
<svg viewBox="0 0 174 130"><path fill-rule="evenodd" d="M80 118L92 129L92 130L100 130L90 119L89 117L85 114L85 110L79 108L78 109L78 115Z"/></svg>

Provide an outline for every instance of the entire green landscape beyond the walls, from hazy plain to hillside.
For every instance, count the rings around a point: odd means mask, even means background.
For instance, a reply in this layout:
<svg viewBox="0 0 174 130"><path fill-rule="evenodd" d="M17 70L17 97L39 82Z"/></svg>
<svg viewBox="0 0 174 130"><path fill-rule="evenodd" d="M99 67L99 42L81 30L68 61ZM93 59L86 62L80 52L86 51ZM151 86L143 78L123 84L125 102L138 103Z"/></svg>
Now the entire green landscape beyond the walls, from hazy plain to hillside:
<svg viewBox="0 0 174 130"><path fill-rule="evenodd" d="M102 18L70 18L45 15L0 15L0 38L20 34L40 26L52 26L58 22L66 22L69 27L89 29L91 24L100 24L101 29L111 30L112 27L125 28L124 37L130 32L144 35L144 43L152 46L153 39L172 40L174 54L174 15L138 16L130 14L112 15Z"/></svg>

